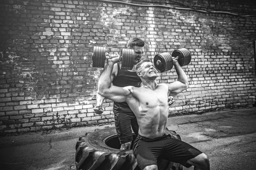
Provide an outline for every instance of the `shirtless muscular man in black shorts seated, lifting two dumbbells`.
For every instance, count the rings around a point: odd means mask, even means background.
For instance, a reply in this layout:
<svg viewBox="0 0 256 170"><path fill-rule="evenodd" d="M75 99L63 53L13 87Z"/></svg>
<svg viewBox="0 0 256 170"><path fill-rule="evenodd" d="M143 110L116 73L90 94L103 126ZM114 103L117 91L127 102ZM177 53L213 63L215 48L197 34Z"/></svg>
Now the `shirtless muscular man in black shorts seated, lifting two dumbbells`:
<svg viewBox="0 0 256 170"><path fill-rule="evenodd" d="M209 159L200 150L186 142L165 135L168 118L169 95L176 95L188 88L186 74L174 59L177 81L157 84L156 69L149 59L137 64L137 75L142 80L140 88L111 85L111 71L119 56L108 59L108 65L99 78L98 93L113 101L127 102L137 117L139 131L134 141L133 153L141 170L157 170L157 158L177 162L195 170L209 170Z"/></svg>

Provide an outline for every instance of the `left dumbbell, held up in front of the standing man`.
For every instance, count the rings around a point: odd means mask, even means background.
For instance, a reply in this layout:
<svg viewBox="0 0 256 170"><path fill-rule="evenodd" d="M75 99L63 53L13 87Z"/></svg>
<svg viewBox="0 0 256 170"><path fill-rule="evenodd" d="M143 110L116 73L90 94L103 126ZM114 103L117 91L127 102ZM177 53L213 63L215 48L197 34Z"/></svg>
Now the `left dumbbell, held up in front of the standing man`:
<svg viewBox="0 0 256 170"><path fill-rule="evenodd" d="M134 66L134 50L123 48L120 56L120 69L131 70ZM93 67L104 68L105 59L109 59L109 56L106 56L106 48L93 47Z"/></svg>

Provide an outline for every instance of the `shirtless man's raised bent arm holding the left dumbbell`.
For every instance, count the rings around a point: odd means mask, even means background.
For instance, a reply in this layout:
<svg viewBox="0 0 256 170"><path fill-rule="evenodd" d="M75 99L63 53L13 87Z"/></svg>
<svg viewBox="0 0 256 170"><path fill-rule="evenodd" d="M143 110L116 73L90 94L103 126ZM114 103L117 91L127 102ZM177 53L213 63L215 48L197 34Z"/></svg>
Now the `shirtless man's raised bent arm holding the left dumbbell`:
<svg viewBox="0 0 256 170"><path fill-rule="evenodd" d="M126 87L121 88L111 85L111 73L113 71L113 66L114 62L108 61L104 71L99 77L98 94L115 102L125 102L126 97L129 96L131 92Z"/></svg>

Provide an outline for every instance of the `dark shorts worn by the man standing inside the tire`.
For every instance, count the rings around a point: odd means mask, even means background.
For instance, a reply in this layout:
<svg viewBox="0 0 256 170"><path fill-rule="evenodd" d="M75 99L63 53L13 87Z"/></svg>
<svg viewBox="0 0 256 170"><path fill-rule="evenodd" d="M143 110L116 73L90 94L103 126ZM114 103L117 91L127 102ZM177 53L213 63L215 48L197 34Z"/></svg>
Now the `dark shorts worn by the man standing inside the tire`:
<svg viewBox="0 0 256 170"><path fill-rule="evenodd" d="M114 107L114 118L116 125L116 134L121 144L133 140L132 130L138 135L139 125L136 116L130 108ZM132 130L131 130L132 127Z"/></svg>

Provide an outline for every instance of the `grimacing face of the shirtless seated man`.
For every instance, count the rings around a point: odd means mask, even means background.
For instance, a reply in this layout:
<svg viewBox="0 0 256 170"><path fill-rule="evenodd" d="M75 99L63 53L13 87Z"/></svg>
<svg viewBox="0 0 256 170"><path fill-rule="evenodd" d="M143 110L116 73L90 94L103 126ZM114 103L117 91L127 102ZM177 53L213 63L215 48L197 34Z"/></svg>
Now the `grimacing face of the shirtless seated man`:
<svg viewBox="0 0 256 170"><path fill-rule="evenodd" d="M140 74L143 78L148 79L156 79L157 78L157 70L154 67L152 62L143 62L140 65Z"/></svg>

